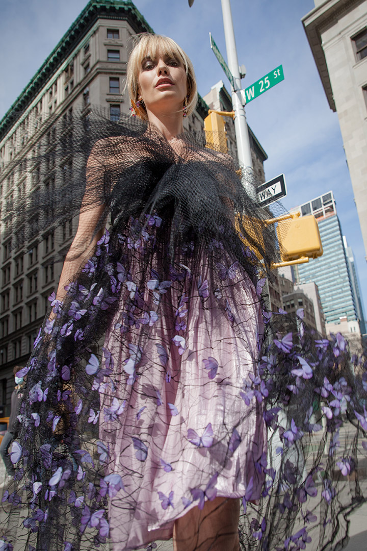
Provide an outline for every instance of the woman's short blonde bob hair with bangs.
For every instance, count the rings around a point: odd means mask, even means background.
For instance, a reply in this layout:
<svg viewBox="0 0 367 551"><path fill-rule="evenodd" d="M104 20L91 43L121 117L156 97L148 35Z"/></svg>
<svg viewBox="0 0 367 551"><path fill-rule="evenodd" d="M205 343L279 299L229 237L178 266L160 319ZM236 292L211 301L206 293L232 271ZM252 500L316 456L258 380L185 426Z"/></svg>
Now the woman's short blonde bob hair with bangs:
<svg viewBox="0 0 367 551"><path fill-rule="evenodd" d="M187 100L187 114L191 115L198 100L198 88L196 87L194 67L187 54L168 36L141 33L140 35L134 36L133 40L134 47L128 61L125 89L128 90L136 114L140 118L146 121L148 120L144 104L141 104L139 109L136 109L136 102L138 101L138 77L141 69L141 62L148 56L154 60L157 55L160 54L174 57L183 64L187 75L189 96Z"/></svg>

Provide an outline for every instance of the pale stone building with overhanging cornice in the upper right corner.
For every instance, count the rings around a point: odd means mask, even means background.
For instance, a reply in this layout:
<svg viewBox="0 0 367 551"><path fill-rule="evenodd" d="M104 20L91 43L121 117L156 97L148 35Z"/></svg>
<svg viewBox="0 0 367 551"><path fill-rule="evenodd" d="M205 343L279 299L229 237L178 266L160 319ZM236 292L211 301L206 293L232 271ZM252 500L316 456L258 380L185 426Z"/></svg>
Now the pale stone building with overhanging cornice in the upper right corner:
<svg viewBox="0 0 367 551"><path fill-rule="evenodd" d="M328 104L338 113L367 255L367 2L315 0L302 21Z"/></svg>

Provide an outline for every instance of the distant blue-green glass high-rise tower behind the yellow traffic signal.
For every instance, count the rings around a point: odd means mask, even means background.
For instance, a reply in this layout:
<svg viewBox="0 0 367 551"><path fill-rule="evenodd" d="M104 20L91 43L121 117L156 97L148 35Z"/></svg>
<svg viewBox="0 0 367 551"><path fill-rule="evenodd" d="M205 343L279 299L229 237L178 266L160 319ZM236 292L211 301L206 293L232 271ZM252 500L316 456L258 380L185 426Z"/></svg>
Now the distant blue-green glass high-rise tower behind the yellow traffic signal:
<svg viewBox="0 0 367 551"><path fill-rule="evenodd" d="M335 326L346 318L349 332L363 333L364 320L358 312L358 281L352 283L349 260L343 242L343 234L336 212L332 191L315 197L297 209L301 215L313 214L319 223L324 254L295 268L298 283L315 282L319 289L324 311L326 332L335 331ZM359 295L355 294L358 289ZM361 322L363 320L363 322ZM344 326L343 326L344 327ZM357 329L357 330L358 330Z"/></svg>

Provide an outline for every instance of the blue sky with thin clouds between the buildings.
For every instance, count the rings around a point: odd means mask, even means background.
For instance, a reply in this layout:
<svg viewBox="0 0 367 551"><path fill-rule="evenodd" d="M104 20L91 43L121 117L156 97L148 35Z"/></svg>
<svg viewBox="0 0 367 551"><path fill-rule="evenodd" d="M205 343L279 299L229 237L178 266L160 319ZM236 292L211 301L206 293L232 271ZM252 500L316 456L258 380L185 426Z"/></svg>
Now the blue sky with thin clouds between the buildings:
<svg viewBox="0 0 367 551"><path fill-rule="evenodd" d="M35 74L86 0L1 0L0 117ZM209 46L211 31L226 58L220 0L135 0L156 33L171 36L193 61L205 95L223 79ZM284 81L247 106L248 123L265 149L266 178L286 175L286 208L333 190L342 230L357 261L367 312L367 264L338 117L324 89L301 23L313 0L231 0L240 64L247 87L282 64Z"/></svg>

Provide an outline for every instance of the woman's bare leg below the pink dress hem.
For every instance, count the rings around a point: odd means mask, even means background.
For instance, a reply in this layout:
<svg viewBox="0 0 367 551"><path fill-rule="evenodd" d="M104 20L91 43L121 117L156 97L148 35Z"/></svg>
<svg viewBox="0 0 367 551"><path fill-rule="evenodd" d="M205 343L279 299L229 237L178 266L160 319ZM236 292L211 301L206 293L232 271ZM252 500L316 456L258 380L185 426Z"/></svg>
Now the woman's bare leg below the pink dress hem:
<svg viewBox="0 0 367 551"><path fill-rule="evenodd" d="M194 507L173 528L174 551L239 551L239 499L215 498Z"/></svg>

